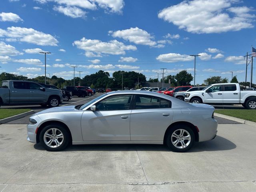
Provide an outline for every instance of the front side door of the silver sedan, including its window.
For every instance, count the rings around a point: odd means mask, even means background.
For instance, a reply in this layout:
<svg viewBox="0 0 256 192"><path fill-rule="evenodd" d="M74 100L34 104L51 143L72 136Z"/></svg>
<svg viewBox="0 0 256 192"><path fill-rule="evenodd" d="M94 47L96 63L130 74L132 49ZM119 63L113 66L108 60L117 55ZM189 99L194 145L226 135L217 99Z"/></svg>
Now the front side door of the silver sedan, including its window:
<svg viewBox="0 0 256 192"><path fill-rule="evenodd" d="M132 95L109 96L96 104L96 111L84 111L81 119L84 141L130 140Z"/></svg>

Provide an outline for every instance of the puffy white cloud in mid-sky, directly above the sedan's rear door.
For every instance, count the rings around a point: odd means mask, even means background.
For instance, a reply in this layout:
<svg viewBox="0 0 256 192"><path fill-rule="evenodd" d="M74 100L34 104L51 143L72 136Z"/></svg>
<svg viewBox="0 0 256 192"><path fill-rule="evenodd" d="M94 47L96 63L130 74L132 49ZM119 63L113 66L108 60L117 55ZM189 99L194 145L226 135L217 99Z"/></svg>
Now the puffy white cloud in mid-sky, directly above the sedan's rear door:
<svg viewBox="0 0 256 192"><path fill-rule="evenodd" d="M108 33L113 37L123 38L124 40L128 40L135 44L156 46L156 42L152 40L154 39L154 36L151 36L148 32L138 27L131 27L130 29L118 30L115 32L109 31Z"/></svg>

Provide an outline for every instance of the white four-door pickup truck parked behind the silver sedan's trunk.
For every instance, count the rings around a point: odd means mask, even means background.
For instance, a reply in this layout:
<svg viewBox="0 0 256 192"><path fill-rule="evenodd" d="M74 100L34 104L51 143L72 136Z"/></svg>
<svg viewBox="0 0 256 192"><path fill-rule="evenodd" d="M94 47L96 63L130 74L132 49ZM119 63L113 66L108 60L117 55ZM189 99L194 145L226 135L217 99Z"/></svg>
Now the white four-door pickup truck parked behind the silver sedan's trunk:
<svg viewBox="0 0 256 192"><path fill-rule="evenodd" d="M242 104L256 109L256 91L241 91L238 83L211 84L201 91L186 93L185 102L206 104Z"/></svg>

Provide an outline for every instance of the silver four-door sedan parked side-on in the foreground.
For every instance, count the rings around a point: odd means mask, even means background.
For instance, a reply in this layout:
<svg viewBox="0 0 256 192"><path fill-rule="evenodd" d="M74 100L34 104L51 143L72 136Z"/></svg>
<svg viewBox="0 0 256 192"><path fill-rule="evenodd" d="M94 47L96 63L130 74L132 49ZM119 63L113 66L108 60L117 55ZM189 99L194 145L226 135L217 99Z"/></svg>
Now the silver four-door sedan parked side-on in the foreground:
<svg viewBox="0 0 256 192"><path fill-rule="evenodd" d="M118 91L30 117L27 140L46 150L72 144L166 144L175 152L215 138L214 108L155 92Z"/></svg>

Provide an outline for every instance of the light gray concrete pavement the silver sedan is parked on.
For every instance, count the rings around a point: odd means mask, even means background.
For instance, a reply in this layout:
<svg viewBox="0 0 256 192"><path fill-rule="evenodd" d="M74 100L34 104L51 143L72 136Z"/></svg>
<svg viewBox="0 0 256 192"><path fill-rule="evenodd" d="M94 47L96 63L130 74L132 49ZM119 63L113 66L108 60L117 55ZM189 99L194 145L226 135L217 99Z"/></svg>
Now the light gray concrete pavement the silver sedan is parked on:
<svg viewBox="0 0 256 192"><path fill-rule="evenodd" d="M0 125L0 191L256 191L255 128L221 124L187 153L162 145L81 145L48 152L26 125Z"/></svg>

